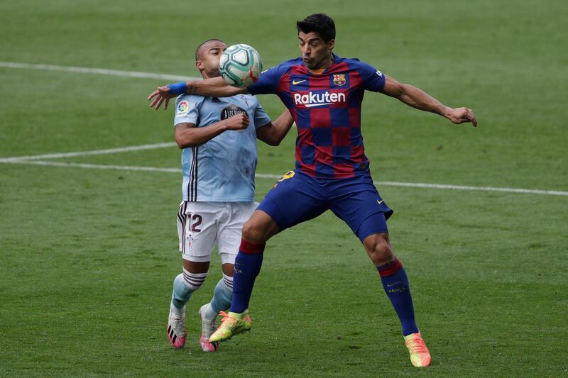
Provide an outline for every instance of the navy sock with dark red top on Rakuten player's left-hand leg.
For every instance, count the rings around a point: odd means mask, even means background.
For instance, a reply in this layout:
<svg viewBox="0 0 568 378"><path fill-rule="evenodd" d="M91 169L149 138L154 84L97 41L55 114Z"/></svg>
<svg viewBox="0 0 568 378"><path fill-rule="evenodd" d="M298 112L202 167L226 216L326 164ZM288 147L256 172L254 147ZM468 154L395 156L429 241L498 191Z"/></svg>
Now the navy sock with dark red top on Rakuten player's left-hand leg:
<svg viewBox="0 0 568 378"><path fill-rule="evenodd" d="M242 313L249 308L254 280L261 272L264 246L241 240L241 248L235 259L231 312Z"/></svg>

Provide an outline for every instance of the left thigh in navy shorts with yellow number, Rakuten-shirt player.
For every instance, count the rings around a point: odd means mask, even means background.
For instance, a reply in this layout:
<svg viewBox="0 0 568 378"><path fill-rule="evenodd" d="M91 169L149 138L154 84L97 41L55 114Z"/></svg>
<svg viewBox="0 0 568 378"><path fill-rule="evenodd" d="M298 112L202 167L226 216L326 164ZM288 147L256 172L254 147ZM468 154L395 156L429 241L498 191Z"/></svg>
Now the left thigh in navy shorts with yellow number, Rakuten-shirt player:
<svg viewBox="0 0 568 378"><path fill-rule="evenodd" d="M267 213L282 231L320 216L328 207L321 188L309 177L290 171L268 191L257 209Z"/></svg>

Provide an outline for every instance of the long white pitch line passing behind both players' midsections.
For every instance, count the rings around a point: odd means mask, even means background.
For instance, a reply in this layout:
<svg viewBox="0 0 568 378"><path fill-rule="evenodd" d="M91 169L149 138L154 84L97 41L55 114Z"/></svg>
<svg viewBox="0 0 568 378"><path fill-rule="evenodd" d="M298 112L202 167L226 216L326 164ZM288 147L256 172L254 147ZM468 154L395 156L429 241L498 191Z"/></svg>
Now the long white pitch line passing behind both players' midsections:
<svg viewBox="0 0 568 378"><path fill-rule="evenodd" d="M76 155L75 155L76 156ZM84 164L75 162L53 162L43 160L0 160L0 162L13 164L28 165L47 165L52 167L76 167L90 169L119 169L125 171L147 171L147 172L168 172L180 174L182 171L178 168L159 168L159 167L138 167L129 165L102 165L102 164ZM258 179L279 179L279 174L263 174L257 173ZM568 196L568 191L541 190L541 189L519 189L519 188L498 188L498 187L469 187L464 185L448 185L448 184L425 184L420 182L393 182L393 181L374 181L378 187L412 187L424 189L447 189L447 190L470 190L470 191L498 191L502 193L523 193L523 194L541 194L549 196Z"/></svg>

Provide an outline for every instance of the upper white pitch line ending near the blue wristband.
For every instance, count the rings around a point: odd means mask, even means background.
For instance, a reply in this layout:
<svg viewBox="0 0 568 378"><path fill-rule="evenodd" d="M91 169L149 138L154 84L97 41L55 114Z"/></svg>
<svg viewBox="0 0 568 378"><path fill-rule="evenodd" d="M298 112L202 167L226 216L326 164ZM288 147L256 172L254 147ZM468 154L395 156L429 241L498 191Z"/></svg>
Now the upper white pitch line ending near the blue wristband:
<svg viewBox="0 0 568 378"><path fill-rule="evenodd" d="M173 74L155 74L152 72L107 70L106 68L68 67L68 66L58 66L58 65L30 65L28 63L16 63L16 62L0 62L0 67L20 68L26 70L79 72L81 74L104 74L104 75L121 76L121 77L142 77L146 79L162 79L162 80L174 80L174 81L187 81L187 80L200 79L197 77L180 76Z"/></svg>

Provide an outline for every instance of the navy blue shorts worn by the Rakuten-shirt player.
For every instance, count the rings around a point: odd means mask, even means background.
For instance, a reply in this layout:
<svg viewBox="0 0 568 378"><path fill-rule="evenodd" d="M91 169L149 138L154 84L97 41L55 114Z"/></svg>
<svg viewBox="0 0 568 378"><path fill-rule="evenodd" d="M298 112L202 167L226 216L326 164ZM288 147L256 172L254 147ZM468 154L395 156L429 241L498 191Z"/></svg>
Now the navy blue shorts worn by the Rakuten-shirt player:
<svg viewBox="0 0 568 378"><path fill-rule="evenodd" d="M257 209L271 216L279 231L329 209L351 227L361 242L373 233L388 233L386 220L393 214L379 196L371 174L317 179L301 171L290 171L278 180Z"/></svg>

